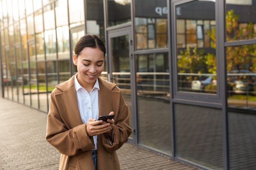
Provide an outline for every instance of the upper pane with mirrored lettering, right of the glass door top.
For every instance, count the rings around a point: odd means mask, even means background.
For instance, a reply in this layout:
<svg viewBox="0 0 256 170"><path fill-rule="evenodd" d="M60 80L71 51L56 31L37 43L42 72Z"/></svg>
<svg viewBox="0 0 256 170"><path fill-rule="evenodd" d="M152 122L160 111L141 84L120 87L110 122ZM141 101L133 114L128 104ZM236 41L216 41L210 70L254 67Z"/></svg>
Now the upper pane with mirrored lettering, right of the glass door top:
<svg viewBox="0 0 256 170"><path fill-rule="evenodd" d="M155 3L144 7L144 0L135 1L135 48L137 50L166 48L167 4L166 0L155 0Z"/></svg>

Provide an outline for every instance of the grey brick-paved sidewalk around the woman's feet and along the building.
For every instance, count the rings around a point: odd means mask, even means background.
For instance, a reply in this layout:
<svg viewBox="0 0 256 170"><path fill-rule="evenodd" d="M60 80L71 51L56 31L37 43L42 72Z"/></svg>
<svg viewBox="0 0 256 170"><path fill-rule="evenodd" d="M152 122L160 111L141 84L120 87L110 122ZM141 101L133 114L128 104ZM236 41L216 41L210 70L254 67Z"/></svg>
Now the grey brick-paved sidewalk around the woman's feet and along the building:
<svg viewBox="0 0 256 170"><path fill-rule="evenodd" d="M0 170L58 170L46 121L46 113L0 98ZM122 170L198 170L129 143L117 153Z"/></svg>

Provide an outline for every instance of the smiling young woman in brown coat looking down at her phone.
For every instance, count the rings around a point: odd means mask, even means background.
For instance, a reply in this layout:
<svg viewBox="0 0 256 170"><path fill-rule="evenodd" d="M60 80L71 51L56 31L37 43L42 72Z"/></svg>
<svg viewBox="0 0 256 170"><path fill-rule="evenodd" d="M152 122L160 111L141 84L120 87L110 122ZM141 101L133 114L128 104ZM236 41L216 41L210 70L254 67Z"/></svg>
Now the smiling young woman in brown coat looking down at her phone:
<svg viewBox="0 0 256 170"><path fill-rule="evenodd" d="M105 55L96 35L81 37L73 55L76 75L52 91L46 140L61 153L59 170L120 170L116 150L132 129L121 90L99 77Z"/></svg>

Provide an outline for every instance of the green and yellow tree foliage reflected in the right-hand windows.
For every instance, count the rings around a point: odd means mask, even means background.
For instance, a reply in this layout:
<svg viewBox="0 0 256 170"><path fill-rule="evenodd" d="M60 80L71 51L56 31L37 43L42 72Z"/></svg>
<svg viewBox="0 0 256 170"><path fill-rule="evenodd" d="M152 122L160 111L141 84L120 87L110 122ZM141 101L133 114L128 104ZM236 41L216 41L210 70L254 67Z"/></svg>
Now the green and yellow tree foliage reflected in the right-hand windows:
<svg viewBox="0 0 256 170"><path fill-rule="evenodd" d="M246 40L256 38L256 31L252 22L238 24L239 15L233 10L226 14L226 41ZM209 31L211 47L216 49L216 29ZM245 69L256 71L256 44L226 47L227 71ZM211 73L216 74L216 54L198 51L198 48L180 51L178 55L179 73Z"/></svg>

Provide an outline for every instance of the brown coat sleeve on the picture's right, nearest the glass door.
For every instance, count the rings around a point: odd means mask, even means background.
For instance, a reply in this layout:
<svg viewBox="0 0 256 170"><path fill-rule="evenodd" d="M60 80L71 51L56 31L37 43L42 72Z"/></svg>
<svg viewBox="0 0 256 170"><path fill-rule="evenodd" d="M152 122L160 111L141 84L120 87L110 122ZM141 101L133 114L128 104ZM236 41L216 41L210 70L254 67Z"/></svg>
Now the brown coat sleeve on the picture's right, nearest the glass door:
<svg viewBox="0 0 256 170"><path fill-rule="evenodd" d="M101 134L101 142L108 152L114 152L121 148L121 146L128 141L128 137L132 133L130 128L130 111L127 104L124 101L123 94L121 92L119 99L118 113L115 113L115 126L112 129L110 140L112 140L112 146L106 139L106 134Z"/></svg>

